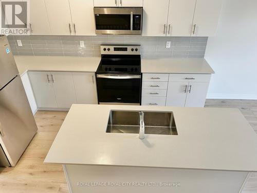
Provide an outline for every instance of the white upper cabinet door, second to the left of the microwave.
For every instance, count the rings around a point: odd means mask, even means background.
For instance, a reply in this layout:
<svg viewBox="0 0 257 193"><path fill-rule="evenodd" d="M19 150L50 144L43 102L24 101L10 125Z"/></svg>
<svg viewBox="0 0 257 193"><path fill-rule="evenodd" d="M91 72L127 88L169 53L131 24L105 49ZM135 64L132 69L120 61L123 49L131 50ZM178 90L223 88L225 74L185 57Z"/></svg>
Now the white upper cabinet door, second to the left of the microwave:
<svg viewBox="0 0 257 193"><path fill-rule="evenodd" d="M72 29L69 0L45 0L45 3L52 34L74 34Z"/></svg>

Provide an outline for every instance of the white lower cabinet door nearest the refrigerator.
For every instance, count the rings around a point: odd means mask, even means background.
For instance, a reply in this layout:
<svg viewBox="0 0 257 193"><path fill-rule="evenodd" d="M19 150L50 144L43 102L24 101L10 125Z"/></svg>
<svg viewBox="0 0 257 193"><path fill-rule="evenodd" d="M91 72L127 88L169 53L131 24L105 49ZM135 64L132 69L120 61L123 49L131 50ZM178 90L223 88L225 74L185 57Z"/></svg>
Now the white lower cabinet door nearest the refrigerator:
<svg viewBox="0 0 257 193"><path fill-rule="evenodd" d="M56 96L49 72L29 72L29 79L38 108L56 108Z"/></svg>

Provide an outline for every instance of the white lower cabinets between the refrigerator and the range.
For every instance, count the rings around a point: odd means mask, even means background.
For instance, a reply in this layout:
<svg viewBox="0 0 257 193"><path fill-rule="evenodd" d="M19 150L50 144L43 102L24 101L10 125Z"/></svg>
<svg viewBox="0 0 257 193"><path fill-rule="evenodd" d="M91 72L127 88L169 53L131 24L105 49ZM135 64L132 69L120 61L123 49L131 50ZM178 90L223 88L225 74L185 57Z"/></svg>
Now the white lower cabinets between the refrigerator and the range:
<svg viewBox="0 0 257 193"><path fill-rule="evenodd" d="M29 79L38 108L68 109L73 103L98 102L94 73L32 71Z"/></svg>

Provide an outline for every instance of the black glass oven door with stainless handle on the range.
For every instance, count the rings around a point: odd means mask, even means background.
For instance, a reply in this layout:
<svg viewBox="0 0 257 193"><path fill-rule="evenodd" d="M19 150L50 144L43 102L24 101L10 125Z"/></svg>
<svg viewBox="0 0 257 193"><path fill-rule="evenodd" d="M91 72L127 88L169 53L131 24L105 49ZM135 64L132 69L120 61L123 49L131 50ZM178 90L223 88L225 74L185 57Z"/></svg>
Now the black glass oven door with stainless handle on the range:
<svg viewBox="0 0 257 193"><path fill-rule="evenodd" d="M140 104L141 75L98 74L99 103Z"/></svg>

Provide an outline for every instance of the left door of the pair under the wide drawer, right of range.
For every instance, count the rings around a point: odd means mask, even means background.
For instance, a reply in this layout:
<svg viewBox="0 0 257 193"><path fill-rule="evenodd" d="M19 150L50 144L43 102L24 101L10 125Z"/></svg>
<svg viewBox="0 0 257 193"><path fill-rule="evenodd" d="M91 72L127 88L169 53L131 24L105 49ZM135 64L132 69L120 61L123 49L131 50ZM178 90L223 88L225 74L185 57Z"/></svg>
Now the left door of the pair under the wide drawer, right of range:
<svg viewBox="0 0 257 193"><path fill-rule="evenodd" d="M166 106L185 107L188 82L169 82Z"/></svg>

